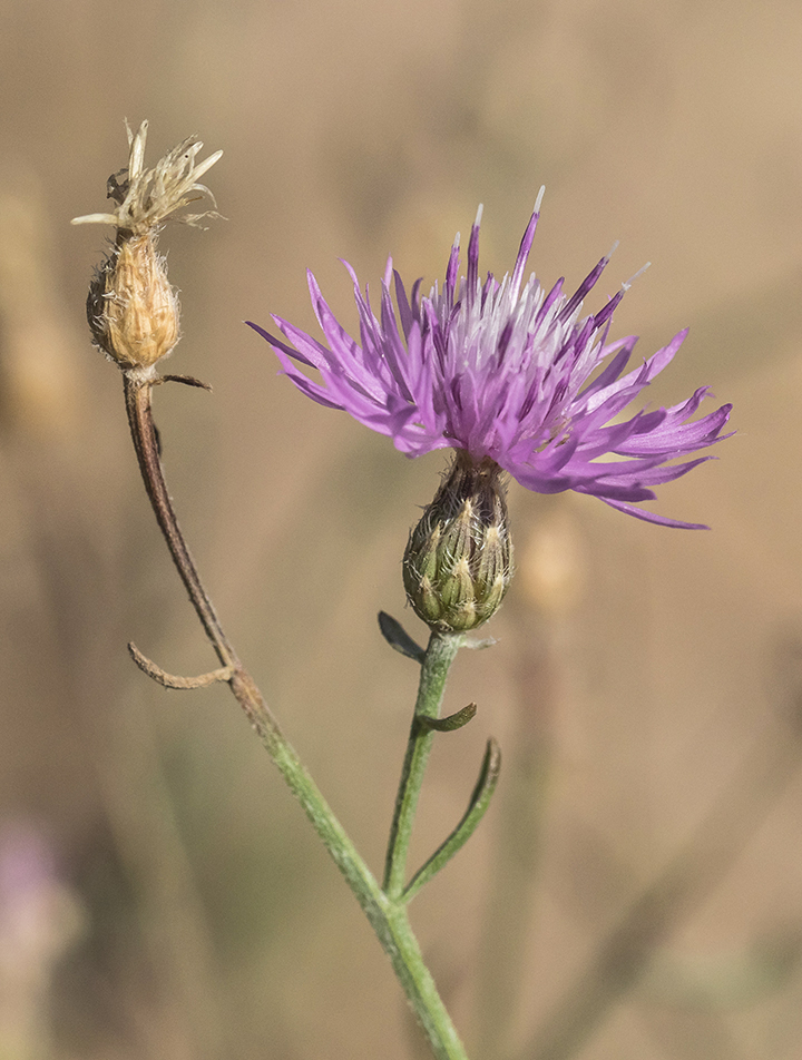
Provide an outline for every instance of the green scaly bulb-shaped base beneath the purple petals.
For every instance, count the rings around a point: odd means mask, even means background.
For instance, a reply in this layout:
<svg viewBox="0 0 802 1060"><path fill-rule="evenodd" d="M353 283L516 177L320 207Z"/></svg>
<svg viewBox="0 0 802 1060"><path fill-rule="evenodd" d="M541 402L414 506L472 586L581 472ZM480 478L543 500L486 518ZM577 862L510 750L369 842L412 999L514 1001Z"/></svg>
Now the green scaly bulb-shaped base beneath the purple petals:
<svg viewBox="0 0 802 1060"><path fill-rule="evenodd" d="M512 580L502 471L463 450L410 534L403 559L415 615L439 632L466 632L499 608Z"/></svg>

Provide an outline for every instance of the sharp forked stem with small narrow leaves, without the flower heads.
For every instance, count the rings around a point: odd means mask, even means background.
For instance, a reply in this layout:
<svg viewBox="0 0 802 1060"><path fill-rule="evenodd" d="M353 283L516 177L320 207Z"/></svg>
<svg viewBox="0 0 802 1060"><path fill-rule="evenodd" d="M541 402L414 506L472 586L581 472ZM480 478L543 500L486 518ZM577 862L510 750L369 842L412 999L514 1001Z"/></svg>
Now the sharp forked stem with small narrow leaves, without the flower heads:
<svg viewBox="0 0 802 1060"><path fill-rule="evenodd" d="M124 379L128 422L145 488L176 568L222 666L199 678L176 678L150 662L131 645L134 660L148 676L167 687L192 688L213 681L225 681L229 685L237 703L245 710L267 753L303 806L306 816L368 916L429 1039L433 1054L438 1060L467 1060L464 1048L423 962L405 909L408 896L403 894L405 855L412 818L423 779L426 759L433 738L432 728L421 725L420 718L437 718L449 667L464 638L432 634L429 647L420 659L421 679L415 718L391 832L388 883L387 889L383 890L362 861L314 781L306 773L295 750L282 734L256 684L226 638L212 601L200 582L167 492L153 422L151 390L156 383L162 382L162 379L154 372L143 373L139 370L125 372ZM197 385L197 381L192 379L175 376L174 379ZM460 715L464 715L464 720L469 720L472 711L460 711ZM432 865L427 879L430 879L451 854L456 853L483 814L498 776L498 754L495 755L493 762L488 762L489 757L490 748L469 809L451 836L427 863Z"/></svg>

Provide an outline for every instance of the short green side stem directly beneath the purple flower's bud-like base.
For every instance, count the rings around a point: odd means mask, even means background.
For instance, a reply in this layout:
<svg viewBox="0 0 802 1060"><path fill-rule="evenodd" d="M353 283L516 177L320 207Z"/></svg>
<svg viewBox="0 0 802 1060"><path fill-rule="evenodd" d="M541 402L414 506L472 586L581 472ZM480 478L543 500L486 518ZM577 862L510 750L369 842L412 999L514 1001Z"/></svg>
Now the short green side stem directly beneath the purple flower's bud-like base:
<svg viewBox="0 0 802 1060"><path fill-rule="evenodd" d="M412 825L418 808L423 774L434 739L434 732L422 726L419 718L437 718L440 716L449 668L463 642L464 636L462 634L432 631L421 664L418 700L401 769L401 782L395 797L395 812L390 828L390 841L384 863L384 892L393 901L398 901L404 892L407 855L412 835Z"/></svg>

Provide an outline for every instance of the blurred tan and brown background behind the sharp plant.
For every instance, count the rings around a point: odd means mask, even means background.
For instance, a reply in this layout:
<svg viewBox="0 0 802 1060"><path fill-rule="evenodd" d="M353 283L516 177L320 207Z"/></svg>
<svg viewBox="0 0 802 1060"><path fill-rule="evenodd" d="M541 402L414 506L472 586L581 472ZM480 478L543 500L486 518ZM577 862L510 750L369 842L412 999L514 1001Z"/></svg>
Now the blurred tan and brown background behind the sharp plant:
<svg viewBox="0 0 802 1060"><path fill-rule="evenodd" d="M802 1051L802 9L796 0L0 4L0 1056L424 1056L391 971L224 688L137 479L84 302L127 160L190 132L227 220L163 238L182 291L160 389L169 484L232 639L380 870L414 667L380 639L444 461L276 377L242 324L313 325L311 266L353 323L442 274L485 204L482 266L588 308L651 261L614 336L649 399L735 402L717 462L666 487L671 531L511 489L519 577L464 652L421 808L423 858L487 736L479 833L414 903L476 1060L794 1060ZM708 410L715 408L708 403Z"/></svg>

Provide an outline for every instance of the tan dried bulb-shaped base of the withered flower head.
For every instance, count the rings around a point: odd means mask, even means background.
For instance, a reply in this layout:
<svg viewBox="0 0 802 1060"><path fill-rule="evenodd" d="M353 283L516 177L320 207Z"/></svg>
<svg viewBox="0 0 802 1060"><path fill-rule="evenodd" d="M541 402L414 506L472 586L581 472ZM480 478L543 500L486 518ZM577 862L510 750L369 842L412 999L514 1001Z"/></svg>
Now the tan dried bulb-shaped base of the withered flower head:
<svg viewBox="0 0 802 1060"><path fill-rule="evenodd" d="M97 345L121 369L148 369L178 342L178 298L154 234L120 234L87 298Z"/></svg>

